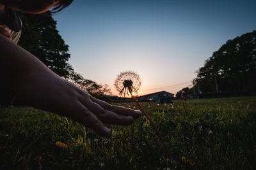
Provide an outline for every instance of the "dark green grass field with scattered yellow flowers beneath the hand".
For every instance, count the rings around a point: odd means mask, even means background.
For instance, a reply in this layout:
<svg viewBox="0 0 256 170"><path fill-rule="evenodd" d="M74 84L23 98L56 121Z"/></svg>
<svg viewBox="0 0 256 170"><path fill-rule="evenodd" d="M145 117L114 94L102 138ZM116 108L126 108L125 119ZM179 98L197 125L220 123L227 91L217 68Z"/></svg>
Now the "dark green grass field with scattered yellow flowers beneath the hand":
<svg viewBox="0 0 256 170"><path fill-rule="evenodd" d="M171 160L144 117L102 138L45 111L0 108L0 169L256 169L256 97L191 99L188 116L182 101L141 104Z"/></svg>

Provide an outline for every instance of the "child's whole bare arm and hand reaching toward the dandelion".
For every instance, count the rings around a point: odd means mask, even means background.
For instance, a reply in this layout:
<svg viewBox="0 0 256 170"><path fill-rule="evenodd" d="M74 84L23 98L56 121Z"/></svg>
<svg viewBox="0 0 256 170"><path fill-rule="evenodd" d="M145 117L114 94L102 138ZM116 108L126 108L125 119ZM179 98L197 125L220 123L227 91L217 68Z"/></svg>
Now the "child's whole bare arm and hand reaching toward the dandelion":
<svg viewBox="0 0 256 170"><path fill-rule="evenodd" d="M90 96L1 34L0 73L1 83L10 85L15 101L72 118L102 136L110 132L104 123L129 125L141 115Z"/></svg>

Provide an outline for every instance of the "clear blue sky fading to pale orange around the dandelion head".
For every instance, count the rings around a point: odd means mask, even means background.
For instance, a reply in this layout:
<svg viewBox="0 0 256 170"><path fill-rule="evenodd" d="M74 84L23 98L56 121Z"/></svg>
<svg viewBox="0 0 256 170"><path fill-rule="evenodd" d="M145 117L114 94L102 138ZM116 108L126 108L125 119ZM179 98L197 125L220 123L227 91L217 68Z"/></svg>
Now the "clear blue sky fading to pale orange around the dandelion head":
<svg viewBox="0 0 256 170"><path fill-rule="evenodd" d="M228 39L256 29L256 1L74 0L54 15L68 62L108 84L121 71L140 75L140 95L176 94Z"/></svg>

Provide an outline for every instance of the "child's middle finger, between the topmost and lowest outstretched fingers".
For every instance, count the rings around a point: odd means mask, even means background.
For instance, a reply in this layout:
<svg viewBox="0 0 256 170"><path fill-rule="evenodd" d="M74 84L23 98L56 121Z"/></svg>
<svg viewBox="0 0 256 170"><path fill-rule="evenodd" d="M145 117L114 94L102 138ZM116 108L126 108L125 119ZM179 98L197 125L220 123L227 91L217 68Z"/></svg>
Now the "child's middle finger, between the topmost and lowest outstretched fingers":
<svg viewBox="0 0 256 170"><path fill-rule="evenodd" d="M90 98L79 99L81 104L83 104L88 110L92 111L92 113L99 118L99 120L106 124L117 124L117 125L129 125L133 122L133 117L131 115L123 116L117 115L113 111L104 110L102 106L97 103L94 103Z"/></svg>

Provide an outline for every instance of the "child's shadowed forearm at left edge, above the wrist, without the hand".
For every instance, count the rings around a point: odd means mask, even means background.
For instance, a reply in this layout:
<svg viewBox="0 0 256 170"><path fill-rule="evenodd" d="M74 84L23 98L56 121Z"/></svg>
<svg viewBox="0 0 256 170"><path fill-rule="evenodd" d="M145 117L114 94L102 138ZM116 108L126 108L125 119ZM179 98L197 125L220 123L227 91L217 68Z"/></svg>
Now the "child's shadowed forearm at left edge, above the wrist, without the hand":
<svg viewBox="0 0 256 170"><path fill-rule="evenodd" d="M28 76L36 71L52 73L34 55L0 34L0 72L4 81L14 87L24 76Z"/></svg>

